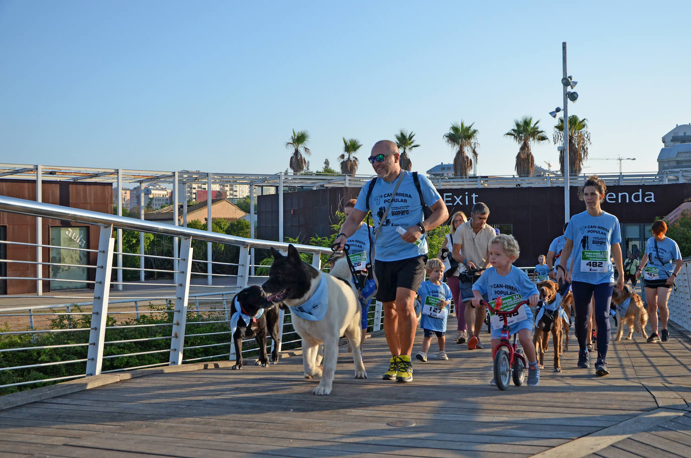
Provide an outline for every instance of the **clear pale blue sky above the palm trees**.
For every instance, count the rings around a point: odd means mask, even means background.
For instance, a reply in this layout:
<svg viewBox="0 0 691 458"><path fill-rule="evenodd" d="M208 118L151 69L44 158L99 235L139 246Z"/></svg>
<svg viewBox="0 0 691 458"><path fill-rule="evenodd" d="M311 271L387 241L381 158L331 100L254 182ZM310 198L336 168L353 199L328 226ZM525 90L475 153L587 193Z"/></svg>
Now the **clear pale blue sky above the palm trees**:
<svg viewBox="0 0 691 458"><path fill-rule="evenodd" d="M451 162L475 122L479 174L513 174L504 133L551 138L562 42L591 158L656 172L661 137L691 122L691 2L0 0L1 162L277 173L292 129L312 170L342 137L413 130L413 169ZM558 166L556 145L533 147ZM617 172L618 161L584 172Z"/></svg>

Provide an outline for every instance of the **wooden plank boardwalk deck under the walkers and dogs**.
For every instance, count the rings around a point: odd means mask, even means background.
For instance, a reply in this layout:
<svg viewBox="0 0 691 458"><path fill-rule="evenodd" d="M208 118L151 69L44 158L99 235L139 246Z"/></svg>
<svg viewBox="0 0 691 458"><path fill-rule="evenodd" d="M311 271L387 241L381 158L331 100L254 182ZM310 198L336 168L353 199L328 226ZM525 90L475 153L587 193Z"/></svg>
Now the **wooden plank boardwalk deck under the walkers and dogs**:
<svg viewBox="0 0 691 458"><path fill-rule="evenodd" d="M366 340L366 380L341 348L330 396L312 395L299 355L242 371L144 371L0 410L0 457L689 457L691 336L634 339L610 346L605 378L576 369L574 345L562 373L548 367L538 387L506 392L489 385L490 350L465 345L414 363L413 383L383 381L383 335Z"/></svg>

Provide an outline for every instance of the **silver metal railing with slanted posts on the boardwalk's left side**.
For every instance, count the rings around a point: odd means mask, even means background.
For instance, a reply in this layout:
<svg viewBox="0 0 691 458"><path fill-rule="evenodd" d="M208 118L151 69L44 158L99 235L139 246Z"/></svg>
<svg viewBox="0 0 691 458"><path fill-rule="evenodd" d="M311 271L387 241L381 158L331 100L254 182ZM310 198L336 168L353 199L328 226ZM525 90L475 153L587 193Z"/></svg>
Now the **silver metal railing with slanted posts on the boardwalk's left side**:
<svg viewBox="0 0 691 458"><path fill-rule="evenodd" d="M229 319L234 313L233 295L250 282L259 282L261 277L250 276L250 248L286 250L285 243L259 239L245 239L231 235L181 228L163 223L118 217L59 205L25 201L0 196L0 211L87 223L99 226L99 244L96 262L79 268L95 270L93 280L87 284L93 292L68 293L69 295L6 295L0 298L28 302L48 302L23 306L0 306L0 390L24 385L37 385L65 381L107 372L126 371L162 365L180 365L199 360L228 358L236 355L231 342ZM115 253L113 230L135 230L149 232L162 237L171 237L178 244L178 255L138 255ZM193 241L212 242L234 246L237 259L230 262L214 261L213 282L194 285L194 273L207 276L205 259L193 259ZM64 247L41 244L26 244L12 240L4 241L8 247L17 245L36 248ZM321 268L321 255L331 253L329 248L295 245L301 253L312 255L312 265ZM172 248L171 248L172 249ZM12 250L8 250L12 253ZM113 271L115 255L143 256L149 260L166 262L157 268L149 264L142 270L147 275L162 275L167 280L160 282L122 282L126 289L114 291L116 277ZM28 267L26 277L4 276L7 282L38 280L62 282L60 277L45 278L41 275L43 266L67 266L77 264L62 262L41 262L36 259L1 259L0 262L24 263ZM203 271L193 272L193 263L202 264ZM129 271L140 268L123 267ZM51 274L52 275L52 274ZM218 291L190 293L190 288L217 288ZM113 289L113 291L111 291ZM111 297L112 296L112 297ZM77 299L75 302L66 300ZM148 304L142 306L142 304ZM370 329L381 329L381 304L369 316ZM3 324L8 323L8 324ZM280 342L271 345L300 345L300 338L292 329L290 313L281 311ZM257 351L254 339L243 345L243 354Z"/></svg>

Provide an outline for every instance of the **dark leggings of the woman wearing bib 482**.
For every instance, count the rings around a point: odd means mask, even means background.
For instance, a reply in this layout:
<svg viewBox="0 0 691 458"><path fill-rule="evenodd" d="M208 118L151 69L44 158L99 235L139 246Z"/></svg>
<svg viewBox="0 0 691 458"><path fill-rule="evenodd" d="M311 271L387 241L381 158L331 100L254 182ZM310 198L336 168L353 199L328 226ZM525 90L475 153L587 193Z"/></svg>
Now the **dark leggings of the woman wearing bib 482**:
<svg viewBox="0 0 691 458"><path fill-rule="evenodd" d="M571 283L574 292L574 314L576 324L574 333L581 350L587 348L588 322L590 321L590 297L595 295L595 321L598 324L598 359L607 359L609 347L609 304L612 302L614 283L591 284Z"/></svg>

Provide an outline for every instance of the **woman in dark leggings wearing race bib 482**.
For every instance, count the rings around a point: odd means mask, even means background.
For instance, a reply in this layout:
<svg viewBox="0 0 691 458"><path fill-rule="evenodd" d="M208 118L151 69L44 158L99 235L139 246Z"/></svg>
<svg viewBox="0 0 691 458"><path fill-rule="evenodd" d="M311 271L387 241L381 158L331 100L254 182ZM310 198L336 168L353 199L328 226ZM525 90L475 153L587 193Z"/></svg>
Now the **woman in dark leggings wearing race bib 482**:
<svg viewBox="0 0 691 458"><path fill-rule="evenodd" d="M578 190L578 197L585 201L585 212L574 214L564 236L566 244L560 256L557 282L571 282L574 293L576 322L574 333L578 339L578 367L590 367L587 340L587 324L590 321L590 298L595 299L595 320L598 324L598 360L595 370L598 376L609 374L607 349L609 347L609 304L614 291L614 266L622 272L621 229L619 220L600 208L605 199L607 185L597 175L589 176ZM573 253L572 253L573 252ZM566 261L572 255L571 269L564 275ZM614 258L614 263L610 260ZM624 287L624 276L619 275L616 289Z"/></svg>

